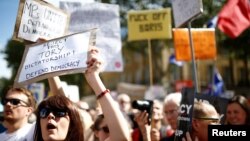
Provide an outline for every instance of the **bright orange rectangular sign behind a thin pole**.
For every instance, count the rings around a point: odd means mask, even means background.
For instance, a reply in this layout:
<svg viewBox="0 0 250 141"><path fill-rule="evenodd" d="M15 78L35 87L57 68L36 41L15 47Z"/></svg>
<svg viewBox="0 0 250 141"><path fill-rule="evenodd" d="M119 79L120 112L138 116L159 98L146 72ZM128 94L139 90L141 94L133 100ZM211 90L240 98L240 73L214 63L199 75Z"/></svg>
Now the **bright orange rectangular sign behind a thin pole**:
<svg viewBox="0 0 250 141"><path fill-rule="evenodd" d="M216 41L214 28L192 28L195 59L215 59ZM191 49L187 28L173 29L175 56L178 61L190 61Z"/></svg>

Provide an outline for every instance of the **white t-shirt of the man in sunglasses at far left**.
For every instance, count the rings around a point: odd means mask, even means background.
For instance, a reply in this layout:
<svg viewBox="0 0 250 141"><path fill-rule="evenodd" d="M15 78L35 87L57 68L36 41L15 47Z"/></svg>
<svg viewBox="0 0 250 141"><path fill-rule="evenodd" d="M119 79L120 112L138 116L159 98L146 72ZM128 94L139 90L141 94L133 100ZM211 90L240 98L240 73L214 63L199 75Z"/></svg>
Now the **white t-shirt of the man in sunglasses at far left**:
<svg viewBox="0 0 250 141"><path fill-rule="evenodd" d="M27 124L13 133L6 131L0 134L1 141L34 141L35 124Z"/></svg>

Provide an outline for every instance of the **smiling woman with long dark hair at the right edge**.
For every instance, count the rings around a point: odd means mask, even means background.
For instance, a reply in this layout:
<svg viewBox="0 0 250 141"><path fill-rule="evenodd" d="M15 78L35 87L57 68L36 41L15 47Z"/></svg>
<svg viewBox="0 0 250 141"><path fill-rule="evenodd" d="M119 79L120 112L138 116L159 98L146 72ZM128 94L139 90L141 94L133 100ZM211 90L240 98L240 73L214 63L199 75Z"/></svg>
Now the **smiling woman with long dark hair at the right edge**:
<svg viewBox="0 0 250 141"><path fill-rule="evenodd" d="M235 95L229 100L225 124L250 125L250 106L244 96Z"/></svg>

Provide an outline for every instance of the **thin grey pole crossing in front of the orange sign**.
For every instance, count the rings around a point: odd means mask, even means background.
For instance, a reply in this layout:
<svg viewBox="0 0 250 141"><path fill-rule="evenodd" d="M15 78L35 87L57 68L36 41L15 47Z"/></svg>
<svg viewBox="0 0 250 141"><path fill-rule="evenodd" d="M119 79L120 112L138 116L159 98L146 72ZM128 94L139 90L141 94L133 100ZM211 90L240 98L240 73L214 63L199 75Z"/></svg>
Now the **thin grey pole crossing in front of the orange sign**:
<svg viewBox="0 0 250 141"><path fill-rule="evenodd" d="M189 43L190 43L191 55L192 55L193 80L194 80L194 85L195 85L195 93L200 93L200 89L198 87L195 54L194 54L194 49L193 49L193 38L192 38L192 33L191 33L191 21L188 22L188 34L189 34Z"/></svg>

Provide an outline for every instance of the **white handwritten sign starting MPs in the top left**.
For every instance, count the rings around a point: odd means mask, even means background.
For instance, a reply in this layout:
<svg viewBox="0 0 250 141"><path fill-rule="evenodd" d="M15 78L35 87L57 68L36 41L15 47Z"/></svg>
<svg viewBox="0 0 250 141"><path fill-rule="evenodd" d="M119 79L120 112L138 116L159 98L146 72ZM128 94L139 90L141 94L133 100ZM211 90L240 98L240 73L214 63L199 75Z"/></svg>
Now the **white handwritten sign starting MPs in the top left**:
<svg viewBox="0 0 250 141"><path fill-rule="evenodd" d="M69 15L43 1L20 0L13 39L36 42L64 36Z"/></svg>

